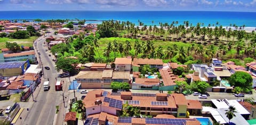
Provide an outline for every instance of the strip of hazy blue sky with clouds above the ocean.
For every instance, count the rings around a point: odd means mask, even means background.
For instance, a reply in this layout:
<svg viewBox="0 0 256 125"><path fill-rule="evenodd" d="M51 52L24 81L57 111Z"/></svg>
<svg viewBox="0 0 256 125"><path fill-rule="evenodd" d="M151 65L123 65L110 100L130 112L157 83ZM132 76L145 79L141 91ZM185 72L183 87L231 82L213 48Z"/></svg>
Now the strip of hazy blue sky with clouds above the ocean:
<svg viewBox="0 0 256 125"><path fill-rule="evenodd" d="M0 0L0 11L246 11L256 0Z"/></svg>

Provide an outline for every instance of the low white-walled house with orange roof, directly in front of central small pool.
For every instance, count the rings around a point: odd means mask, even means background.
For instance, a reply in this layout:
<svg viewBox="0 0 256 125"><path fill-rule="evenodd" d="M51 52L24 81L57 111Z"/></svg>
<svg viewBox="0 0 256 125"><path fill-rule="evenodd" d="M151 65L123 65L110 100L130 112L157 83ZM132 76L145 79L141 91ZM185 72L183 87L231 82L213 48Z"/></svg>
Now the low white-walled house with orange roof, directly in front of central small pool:
<svg viewBox="0 0 256 125"><path fill-rule="evenodd" d="M157 78L133 78L133 90L158 90L160 81Z"/></svg>

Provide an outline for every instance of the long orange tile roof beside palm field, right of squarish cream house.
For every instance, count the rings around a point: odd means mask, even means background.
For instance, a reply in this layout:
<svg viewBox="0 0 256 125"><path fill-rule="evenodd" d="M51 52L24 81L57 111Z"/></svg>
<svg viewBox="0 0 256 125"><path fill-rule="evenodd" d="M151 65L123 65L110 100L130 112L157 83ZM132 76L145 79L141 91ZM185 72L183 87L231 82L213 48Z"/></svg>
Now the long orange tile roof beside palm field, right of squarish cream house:
<svg viewBox="0 0 256 125"><path fill-rule="evenodd" d="M142 58L134 58L132 65L163 65L162 59L142 59Z"/></svg>

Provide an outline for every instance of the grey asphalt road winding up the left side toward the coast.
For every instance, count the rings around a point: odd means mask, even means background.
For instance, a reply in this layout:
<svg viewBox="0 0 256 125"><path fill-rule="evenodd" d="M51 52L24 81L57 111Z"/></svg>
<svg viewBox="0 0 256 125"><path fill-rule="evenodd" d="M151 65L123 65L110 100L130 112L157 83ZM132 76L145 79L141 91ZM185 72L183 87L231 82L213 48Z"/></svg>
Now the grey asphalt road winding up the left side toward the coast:
<svg viewBox="0 0 256 125"><path fill-rule="evenodd" d="M37 40L36 50L40 52L41 55L37 54L38 62L43 68L44 76L42 77L42 82L39 85L43 84L43 81L50 81L50 90L44 91L43 87L37 96L36 102L33 107L30 109L27 117L24 120L23 124L53 124L56 105L62 103L62 91L55 91L55 82L58 72L54 68L54 62L52 57L49 57L50 52L45 51L47 47L43 43L45 38L41 37ZM41 59L40 59L41 58ZM40 61L41 60L41 61ZM46 70L44 67L50 67L50 70ZM43 80L44 79L44 80Z"/></svg>

